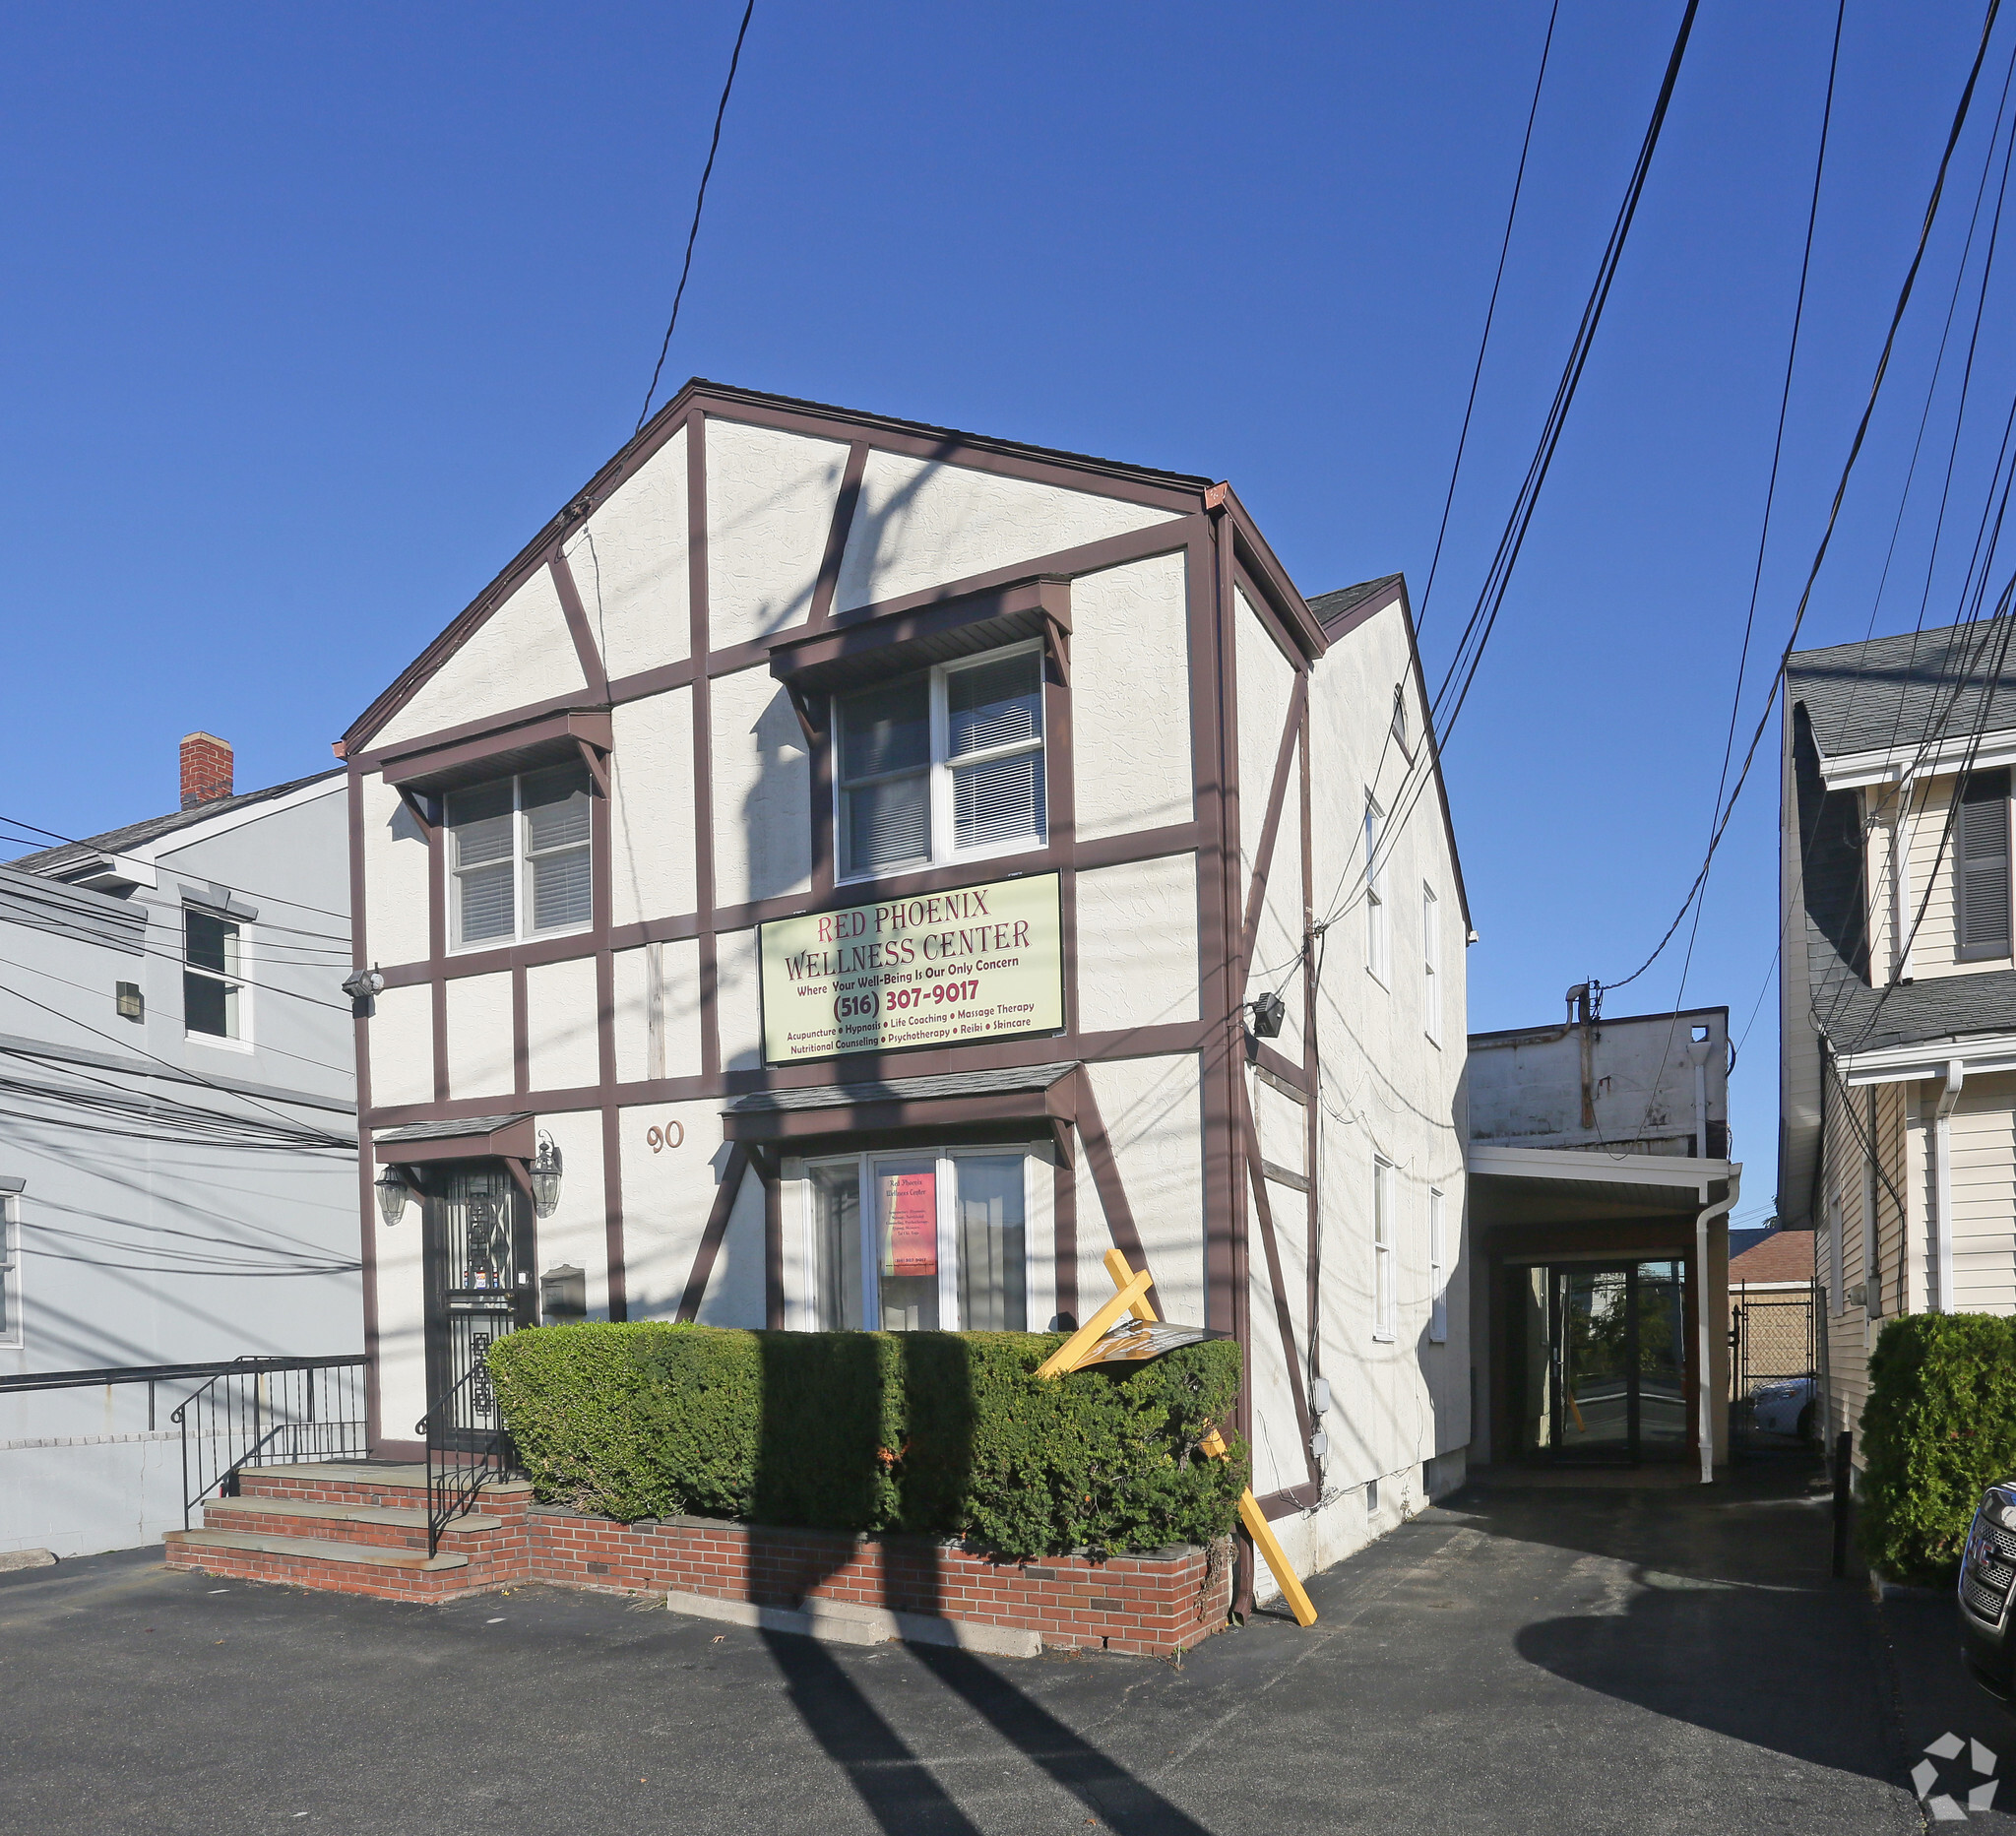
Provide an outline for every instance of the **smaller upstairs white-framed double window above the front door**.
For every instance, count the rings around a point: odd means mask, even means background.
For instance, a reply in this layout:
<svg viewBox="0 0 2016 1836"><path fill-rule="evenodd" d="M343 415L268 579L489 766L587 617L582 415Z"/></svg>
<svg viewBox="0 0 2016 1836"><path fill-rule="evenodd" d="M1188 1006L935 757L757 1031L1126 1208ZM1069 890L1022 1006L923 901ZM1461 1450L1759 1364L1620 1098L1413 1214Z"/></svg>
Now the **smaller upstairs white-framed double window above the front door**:
<svg viewBox="0 0 2016 1836"><path fill-rule="evenodd" d="M452 949L589 927L589 808L583 764L448 792Z"/></svg>

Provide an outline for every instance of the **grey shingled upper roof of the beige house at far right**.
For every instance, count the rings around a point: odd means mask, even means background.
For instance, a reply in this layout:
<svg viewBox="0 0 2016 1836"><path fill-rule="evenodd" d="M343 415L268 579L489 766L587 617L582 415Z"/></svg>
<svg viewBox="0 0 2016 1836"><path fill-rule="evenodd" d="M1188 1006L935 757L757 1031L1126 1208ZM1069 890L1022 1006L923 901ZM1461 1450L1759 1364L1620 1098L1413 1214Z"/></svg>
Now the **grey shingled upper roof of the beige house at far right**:
<svg viewBox="0 0 2016 1836"><path fill-rule="evenodd" d="M1784 665L1786 699L1806 703L1822 758L1917 746L1933 728L1970 734L1984 699L1982 732L1994 734L2016 728L2016 649L2000 675L1982 675L2000 649L1998 627L1982 619L1794 651Z"/></svg>

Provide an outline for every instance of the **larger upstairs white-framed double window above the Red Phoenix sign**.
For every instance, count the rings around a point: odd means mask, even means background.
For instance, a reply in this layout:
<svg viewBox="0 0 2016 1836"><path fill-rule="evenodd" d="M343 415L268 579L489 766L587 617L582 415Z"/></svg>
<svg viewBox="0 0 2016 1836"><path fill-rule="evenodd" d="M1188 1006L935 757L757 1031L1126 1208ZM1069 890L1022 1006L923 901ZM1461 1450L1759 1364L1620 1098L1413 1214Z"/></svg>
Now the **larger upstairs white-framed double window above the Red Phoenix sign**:
<svg viewBox="0 0 2016 1836"><path fill-rule="evenodd" d="M1042 846L1040 641L839 695L833 711L843 881Z"/></svg>

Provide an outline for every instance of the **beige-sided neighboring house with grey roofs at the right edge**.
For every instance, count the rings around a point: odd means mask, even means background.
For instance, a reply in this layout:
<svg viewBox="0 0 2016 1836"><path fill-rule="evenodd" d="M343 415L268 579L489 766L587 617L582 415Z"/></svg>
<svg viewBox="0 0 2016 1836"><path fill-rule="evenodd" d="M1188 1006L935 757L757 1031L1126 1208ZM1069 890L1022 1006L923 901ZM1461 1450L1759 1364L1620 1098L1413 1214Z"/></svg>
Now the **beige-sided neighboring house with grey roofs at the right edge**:
<svg viewBox="0 0 2016 1836"><path fill-rule="evenodd" d="M1778 1215L1810 1227L1826 1431L1907 1312L2016 1312L2016 671L1996 623L1786 665Z"/></svg>

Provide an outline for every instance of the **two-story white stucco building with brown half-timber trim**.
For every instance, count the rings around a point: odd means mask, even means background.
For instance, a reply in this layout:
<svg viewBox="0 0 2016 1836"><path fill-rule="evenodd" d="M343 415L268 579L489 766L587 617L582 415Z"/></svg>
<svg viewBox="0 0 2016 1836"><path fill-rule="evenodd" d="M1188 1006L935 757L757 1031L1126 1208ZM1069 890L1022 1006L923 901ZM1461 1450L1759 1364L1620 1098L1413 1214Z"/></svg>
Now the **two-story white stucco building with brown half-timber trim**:
<svg viewBox="0 0 2016 1836"><path fill-rule="evenodd" d="M696 381L343 752L381 1451L540 1318L1042 1330L1117 1245L1244 1344L1298 1562L1460 1481L1470 919L1397 576Z"/></svg>

